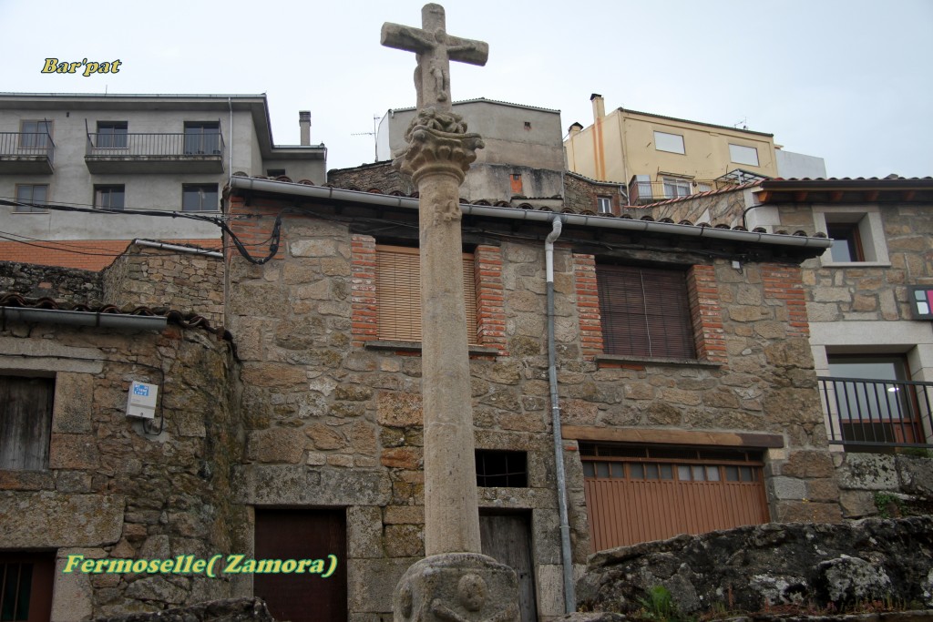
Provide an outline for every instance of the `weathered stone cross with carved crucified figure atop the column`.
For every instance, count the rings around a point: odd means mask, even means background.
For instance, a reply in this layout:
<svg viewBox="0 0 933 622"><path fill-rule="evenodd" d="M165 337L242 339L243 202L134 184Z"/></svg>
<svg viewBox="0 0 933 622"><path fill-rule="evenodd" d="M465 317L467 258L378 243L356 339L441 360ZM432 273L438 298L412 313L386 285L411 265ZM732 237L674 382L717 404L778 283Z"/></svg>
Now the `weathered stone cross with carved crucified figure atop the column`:
<svg viewBox="0 0 933 622"><path fill-rule="evenodd" d="M414 52L418 66L414 70L414 88L418 109L434 106L451 109L451 61L486 64L489 46L483 41L448 35L444 7L425 5L421 9L422 27L384 23L382 44L387 48Z"/></svg>

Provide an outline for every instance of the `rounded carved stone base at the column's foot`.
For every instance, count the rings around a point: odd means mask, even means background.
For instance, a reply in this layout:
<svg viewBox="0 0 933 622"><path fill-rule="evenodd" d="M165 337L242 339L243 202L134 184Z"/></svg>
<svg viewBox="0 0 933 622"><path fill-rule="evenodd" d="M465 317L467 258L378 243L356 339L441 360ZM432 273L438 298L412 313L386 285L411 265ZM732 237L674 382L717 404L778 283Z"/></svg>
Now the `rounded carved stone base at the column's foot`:
<svg viewBox="0 0 933 622"><path fill-rule="evenodd" d="M416 561L393 598L395 622L518 622L515 572L478 553Z"/></svg>

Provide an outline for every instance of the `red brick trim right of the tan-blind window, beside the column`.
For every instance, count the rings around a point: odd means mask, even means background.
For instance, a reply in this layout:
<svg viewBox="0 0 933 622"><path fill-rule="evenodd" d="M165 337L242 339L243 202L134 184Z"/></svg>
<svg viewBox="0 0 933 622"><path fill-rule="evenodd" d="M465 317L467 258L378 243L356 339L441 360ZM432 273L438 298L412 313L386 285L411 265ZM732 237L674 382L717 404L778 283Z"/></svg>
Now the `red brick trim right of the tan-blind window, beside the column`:
<svg viewBox="0 0 933 622"><path fill-rule="evenodd" d="M478 340L480 345L496 348L499 355L508 356L502 249L498 246L477 246L473 259Z"/></svg>

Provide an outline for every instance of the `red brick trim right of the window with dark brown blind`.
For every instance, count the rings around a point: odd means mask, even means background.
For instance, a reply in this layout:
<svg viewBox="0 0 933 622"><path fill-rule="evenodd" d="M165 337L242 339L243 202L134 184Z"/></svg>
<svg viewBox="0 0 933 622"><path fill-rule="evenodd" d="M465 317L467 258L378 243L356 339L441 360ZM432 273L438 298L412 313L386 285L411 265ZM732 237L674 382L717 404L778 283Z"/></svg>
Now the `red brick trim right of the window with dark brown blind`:
<svg viewBox="0 0 933 622"><path fill-rule="evenodd" d="M723 366L729 363L722 307L713 266L691 266L687 272L687 296L693 321L697 358Z"/></svg>

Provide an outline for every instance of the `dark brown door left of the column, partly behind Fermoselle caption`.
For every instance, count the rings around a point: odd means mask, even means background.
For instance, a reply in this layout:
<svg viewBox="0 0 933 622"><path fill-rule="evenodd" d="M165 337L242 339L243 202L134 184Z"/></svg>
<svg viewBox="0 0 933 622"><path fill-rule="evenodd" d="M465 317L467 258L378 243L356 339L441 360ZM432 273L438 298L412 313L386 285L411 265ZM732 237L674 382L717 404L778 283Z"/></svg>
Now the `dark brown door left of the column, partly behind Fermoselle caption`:
<svg viewBox="0 0 933 622"><path fill-rule="evenodd" d="M253 593L277 620L311 622L347 619L346 512L340 510L256 510L257 560L327 560L337 570L320 574L254 574Z"/></svg>

